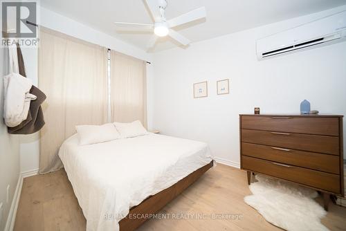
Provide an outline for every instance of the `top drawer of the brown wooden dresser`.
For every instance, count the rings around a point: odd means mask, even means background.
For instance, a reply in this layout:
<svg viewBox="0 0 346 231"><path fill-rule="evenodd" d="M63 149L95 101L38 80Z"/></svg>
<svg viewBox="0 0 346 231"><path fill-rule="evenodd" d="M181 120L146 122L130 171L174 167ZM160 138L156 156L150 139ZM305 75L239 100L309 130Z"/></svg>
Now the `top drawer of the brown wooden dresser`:
<svg viewBox="0 0 346 231"><path fill-rule="evenodd" d="M242 129L339 136L339 119L329 117L243 115Z"/></svg>

